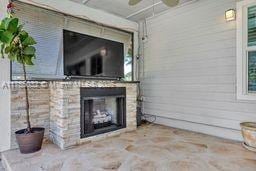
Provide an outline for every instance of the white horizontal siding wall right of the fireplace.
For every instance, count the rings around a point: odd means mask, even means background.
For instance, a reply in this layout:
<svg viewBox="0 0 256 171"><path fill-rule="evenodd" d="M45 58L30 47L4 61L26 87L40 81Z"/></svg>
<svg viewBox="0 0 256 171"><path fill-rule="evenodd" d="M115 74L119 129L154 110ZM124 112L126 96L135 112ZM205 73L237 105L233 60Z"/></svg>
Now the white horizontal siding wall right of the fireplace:
<svg viewBox="0 0 256 171"><path fill-rule="evenodd" d="M157 122L241 140L256 103L236 99L236 0L199 0L147 20L142 93Z"/></svg>

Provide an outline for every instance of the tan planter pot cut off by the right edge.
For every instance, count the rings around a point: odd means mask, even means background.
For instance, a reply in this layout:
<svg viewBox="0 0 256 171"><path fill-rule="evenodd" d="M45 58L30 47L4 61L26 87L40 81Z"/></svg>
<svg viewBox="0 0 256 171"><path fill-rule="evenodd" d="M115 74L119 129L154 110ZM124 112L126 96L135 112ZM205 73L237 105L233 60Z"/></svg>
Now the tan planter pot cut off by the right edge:
<svg viewBox="0 0 256 171"><path fill-rule="evenodd" d="M244 122L240 124L245 145L256 149L256 123Z"/></svg>

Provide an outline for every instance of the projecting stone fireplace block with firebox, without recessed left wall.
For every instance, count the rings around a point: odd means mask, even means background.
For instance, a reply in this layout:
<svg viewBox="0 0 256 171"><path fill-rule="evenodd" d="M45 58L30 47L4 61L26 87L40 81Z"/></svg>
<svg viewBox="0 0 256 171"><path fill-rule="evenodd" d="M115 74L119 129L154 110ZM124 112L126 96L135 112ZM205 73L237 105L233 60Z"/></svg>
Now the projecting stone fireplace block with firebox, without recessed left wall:
<svg viewBox="0 0 256 171"><path fill-rule="evenodd" d="M50 94L50 139L62 149L136 129L136 84L55 82Z"/></svg>

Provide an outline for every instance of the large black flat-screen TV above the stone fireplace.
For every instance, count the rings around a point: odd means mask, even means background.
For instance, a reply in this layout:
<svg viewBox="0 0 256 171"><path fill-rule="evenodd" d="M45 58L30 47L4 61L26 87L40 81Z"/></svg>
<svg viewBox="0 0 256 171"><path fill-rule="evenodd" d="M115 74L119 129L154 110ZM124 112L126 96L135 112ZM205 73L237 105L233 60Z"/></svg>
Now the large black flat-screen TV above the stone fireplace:
<svg viewBox="0 0 256 171"><path fill-rule="evenodd" d="M124 77L124 44L63 30L64 74L74 77Z"/></svg>

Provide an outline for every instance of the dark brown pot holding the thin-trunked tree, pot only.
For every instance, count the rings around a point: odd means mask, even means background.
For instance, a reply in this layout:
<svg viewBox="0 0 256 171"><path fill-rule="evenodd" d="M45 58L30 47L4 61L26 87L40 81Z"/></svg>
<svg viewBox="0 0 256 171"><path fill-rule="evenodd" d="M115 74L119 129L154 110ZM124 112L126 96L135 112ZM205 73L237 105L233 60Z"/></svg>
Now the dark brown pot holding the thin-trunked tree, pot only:
<svg viewBox="0 0 256 171"><path fill-rule="evenodd" d="M44 139L44 128L32 128L32 133L25 134L26 129L16 131L16 139L22 154L41 150Z"/></svg>

